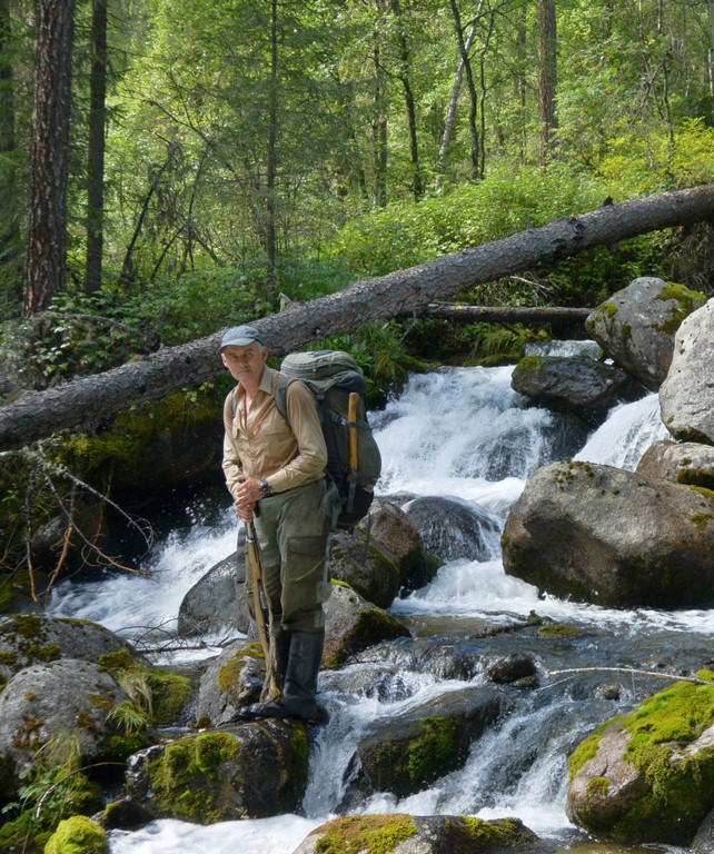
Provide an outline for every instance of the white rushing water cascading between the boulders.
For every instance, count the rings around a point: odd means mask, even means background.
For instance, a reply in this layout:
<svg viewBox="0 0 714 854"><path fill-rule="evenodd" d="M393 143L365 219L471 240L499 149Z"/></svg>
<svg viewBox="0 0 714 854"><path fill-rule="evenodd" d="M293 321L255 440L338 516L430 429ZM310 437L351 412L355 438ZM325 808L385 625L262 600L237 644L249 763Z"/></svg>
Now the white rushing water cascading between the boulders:
<svg viewBox="0 0 714 854"><path fill-rule="evenodd" d="M564 419L545 409L528 407L510 389L512 368L445 368L411 377L398 400L373 416L384 459L381 495L449 495L473 502L490 514L500 527L525 480L537 467L555 459L576 459L634 469L644 450L667 436L658 415L656 395L618 406L592 436L573 447L573 433ZM171 537L151 560L150 578L107 577L96 584L62 585L53 613L95 619L128 636L138 627L175 625L186 592L235 549L236 524L228 508L218 526L197 527L184 537ZM497 537L494 539L497 544ZM648 609L617 612L539 597L532 585L505 575L497 545L486 562L457 560L443 566L426 588L397 600L393 612L406 617L472 618L508 613L527 616L532 610L555 619L612 625L619 632L643 628L696 630L714 634L714 612L666 613ZM133 627L133 628L132 628ZM208 640L215 640L209 638ZM206 653L204 652L204 655ZM226 822L197 827L176 821L155 822L136 832L113 832L112 854L290 854L309 831L333 817L345 790L354 745L369 722L398 713L405 705L422 703L449 685L435 684L423 674L411 678L408 698L384 703L376 696L333 696L326 691L330 723L321 727L311 757L310 781L301 816L264 821ZM463 688L463 683L454 688ZM325 688L323 688L325 691ZM376 795L364 812L404 811L411 814L455 813L497 817L516 815L542 834L567 828L565 817L565 753L558 739L558 716L572 721L567 709L548 707L514 715L479 742L467 764L438 781L434 787L398 801ZM507 775L505 751L522 744L523 751L548 733L548 748L534 756L526 774L513 786L498 787ZM554 747L555 745L555 747ZM500 792L489 801L483 792Z"/></svg>

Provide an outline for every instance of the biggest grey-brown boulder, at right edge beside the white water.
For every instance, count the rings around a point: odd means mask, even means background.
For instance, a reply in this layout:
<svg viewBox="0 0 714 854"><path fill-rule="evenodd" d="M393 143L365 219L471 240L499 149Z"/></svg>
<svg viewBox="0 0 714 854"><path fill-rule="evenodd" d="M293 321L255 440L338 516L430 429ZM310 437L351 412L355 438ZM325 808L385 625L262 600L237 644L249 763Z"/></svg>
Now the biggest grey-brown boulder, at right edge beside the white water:
<svg viewBox="0 0 714 854"><path fill-rule="evenodd" d="M714 493L612 466L538 469L504 529L508 575L605 606L712 607Z"/></svg>

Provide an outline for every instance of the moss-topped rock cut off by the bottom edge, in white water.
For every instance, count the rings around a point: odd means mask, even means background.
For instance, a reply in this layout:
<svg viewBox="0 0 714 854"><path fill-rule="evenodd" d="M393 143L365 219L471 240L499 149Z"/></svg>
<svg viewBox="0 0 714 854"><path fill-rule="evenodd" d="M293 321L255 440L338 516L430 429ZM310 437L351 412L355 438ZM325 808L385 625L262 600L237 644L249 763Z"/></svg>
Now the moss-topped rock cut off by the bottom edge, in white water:
<svg viewBox="0 0 714 854"><path fill-rule="evenodd" d="M499 854L548 851L518 818L464 815L348 815L316 827L294 854L391 851L399 854Z"/></svg>

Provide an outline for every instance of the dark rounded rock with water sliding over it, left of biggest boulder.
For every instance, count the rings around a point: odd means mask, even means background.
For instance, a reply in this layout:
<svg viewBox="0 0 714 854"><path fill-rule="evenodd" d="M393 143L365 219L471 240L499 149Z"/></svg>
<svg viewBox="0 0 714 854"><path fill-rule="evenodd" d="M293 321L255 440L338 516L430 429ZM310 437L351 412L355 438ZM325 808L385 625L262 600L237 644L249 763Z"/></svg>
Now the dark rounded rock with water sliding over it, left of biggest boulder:
<svg viewBox="0 0 714 854"><path fill-rule="evenodd" d="M498 552L499 526L488 510L453 496L423 496L404 510L425 550L440 560L490 560Z"/></svg>

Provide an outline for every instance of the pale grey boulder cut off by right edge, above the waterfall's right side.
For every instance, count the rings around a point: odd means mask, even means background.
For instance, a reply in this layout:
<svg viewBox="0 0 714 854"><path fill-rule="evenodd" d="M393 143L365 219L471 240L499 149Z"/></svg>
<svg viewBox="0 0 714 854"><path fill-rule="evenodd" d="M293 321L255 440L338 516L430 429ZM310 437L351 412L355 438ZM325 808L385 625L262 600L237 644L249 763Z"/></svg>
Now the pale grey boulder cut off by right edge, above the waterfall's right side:
<svg viewBox="0 0 714 854"><path fill-rule="evenodd" d="M675 439L714 445L714 299L677 330L667 378L660 389L662 420Z"/></svg>

